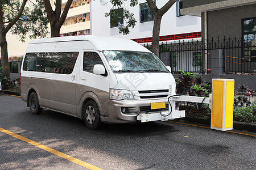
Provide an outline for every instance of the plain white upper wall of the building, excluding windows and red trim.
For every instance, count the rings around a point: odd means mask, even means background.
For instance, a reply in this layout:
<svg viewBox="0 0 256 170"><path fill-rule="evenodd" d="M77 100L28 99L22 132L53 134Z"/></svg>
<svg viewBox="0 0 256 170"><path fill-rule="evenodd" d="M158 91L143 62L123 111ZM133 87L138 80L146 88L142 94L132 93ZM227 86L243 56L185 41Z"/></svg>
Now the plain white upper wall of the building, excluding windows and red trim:
<svg viewBox="0 0 256 170"><path fill-rule="evenodd" d="M105 2L105 3L103 3ZM129 35L119 33L118 27L110 28L110 18L105 18L105 13L109 12L113 5L109 0L90 1L91 3L91 31L92 35L97 36L117 36L126 39L139 39L152 37L154 21L140 23L139 4L146 0L138 0L138 5L130 7L130 1L124 1L125 6L134 14L137 23L133 29L130 29ZM158 8L164 6L168 0L156 1ZM124 24L125 21L124 21ZM179 33L200 32L201 18L197 16L176 16L176 3L164 14L160 27L160 36L174 35Z"/></svg>

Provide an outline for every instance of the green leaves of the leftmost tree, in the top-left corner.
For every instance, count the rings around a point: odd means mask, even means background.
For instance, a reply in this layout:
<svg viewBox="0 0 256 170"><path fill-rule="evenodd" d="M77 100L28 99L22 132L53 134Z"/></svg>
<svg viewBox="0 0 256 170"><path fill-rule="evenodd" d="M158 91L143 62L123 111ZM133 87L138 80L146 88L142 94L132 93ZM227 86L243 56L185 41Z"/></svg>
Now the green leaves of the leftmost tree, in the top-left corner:
<svg viewBox="0 0 256 170"><path fill-rule="evenodd" d="M12 0L7 1L3 5L5 25L9 24L13 18L18 14L20 8L20 1ZM44 3L42 0L36 0L35 2L27 2L26 7L23 10L22 16L10 29L11 33L20 37L21 41L25 41L26 37L30 39L36 39L36 37L46 37L48 33L48 19Z"/></svg>

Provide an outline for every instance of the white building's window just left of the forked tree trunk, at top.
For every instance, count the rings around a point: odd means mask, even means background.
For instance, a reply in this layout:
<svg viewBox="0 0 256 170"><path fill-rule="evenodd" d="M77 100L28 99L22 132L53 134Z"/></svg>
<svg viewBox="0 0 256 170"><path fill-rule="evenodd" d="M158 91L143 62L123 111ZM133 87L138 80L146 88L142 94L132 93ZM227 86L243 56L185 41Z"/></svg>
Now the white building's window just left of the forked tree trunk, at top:
<svg viewBox="0 0 256 170"><path fill-rule="evenodd" d="M155 3L155 1L153 1ZM149 22L155 19L153 12L150 10L150 7L147 5L147 2L141 3L139 5L141 12L141 23Z"/></svg>

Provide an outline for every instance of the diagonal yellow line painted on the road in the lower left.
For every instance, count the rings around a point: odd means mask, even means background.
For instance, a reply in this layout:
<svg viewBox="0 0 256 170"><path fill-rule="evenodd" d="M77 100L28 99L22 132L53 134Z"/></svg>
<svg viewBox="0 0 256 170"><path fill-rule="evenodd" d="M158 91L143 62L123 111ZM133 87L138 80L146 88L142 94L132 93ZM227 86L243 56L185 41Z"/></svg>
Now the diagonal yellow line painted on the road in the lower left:
<svg viewBox="0 0 256 170"><path fill-rule="evenodd" d="M22 141L24 141L24 142L30 143L31 145L34 145L34 146L36 146L36 147L39 147L39 148L41 148L42 150L45 150L45 151L50 152L50 153L52 153L52 154L54 154L54 155L60 156L61 158L67 159L67 160L69 160L70 162L79 164L79 165L81 165L82 167L85 167L85 168L88 168L88 169L92 169L92 170L101 169L101 168L98 168L98 167L96 167L96 166L94 166L94 165L91 165L91 164L88 164L88 163L86 163L86 162L83 162L83 161L81 161L81 160L79 160L79 159L73 158L72 156L69 156L69 155L67 155L67 154L63 154L62 152L59 152L59 151L56 151L56 150L54 150L53 148L44 146L44 145L42 145L42 144L40 144L40 143L38 143L38 142L32 141L32 140L30 140L30 139L28 139L28 138L24 138L24 137L22 137L22 136L20 136L20 135L18 135L18 134L15 134L15 133L13 133L13 132L11 132L11 131L5 130L5 129L3 129L3 128L0 128L0 131L2 131L3 133L9 134L9 135L11 135L11 136L14 137L14 138L17 138L17 139L20 139L20 140L22 140Z"/></svg>

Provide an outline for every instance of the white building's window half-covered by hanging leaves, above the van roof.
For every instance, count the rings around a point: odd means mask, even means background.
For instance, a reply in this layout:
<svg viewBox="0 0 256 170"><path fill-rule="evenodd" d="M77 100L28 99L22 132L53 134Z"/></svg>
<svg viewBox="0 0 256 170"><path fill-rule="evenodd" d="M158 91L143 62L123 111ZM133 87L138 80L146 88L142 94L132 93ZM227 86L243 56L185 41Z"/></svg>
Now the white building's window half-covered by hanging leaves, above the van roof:
<svg viewBox="0 0 256 170"><path fill-rule="evenodd" d="M110 27L119 27L123 25L123 8L111 10L113 13L110 16Z"/></svg>

